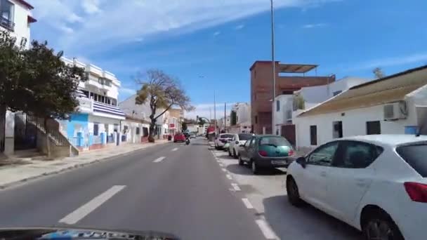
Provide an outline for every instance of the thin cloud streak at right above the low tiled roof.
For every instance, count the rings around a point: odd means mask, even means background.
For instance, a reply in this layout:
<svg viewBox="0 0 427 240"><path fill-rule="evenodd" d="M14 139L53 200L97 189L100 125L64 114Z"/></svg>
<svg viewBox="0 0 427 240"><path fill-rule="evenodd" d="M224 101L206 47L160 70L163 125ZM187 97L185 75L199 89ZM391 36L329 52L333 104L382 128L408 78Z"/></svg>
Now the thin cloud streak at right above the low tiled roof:
<svg viewBox="0 0 427 240"><path fill-rule="evenodd" d="M355 65L355 67L349 67L349 70L374 69L375 67L393 67L412 63L426 64L426 61L427 53L414 53L399 57L381 58L376 60L369 60L367 62L361 62Z"/></svg>

